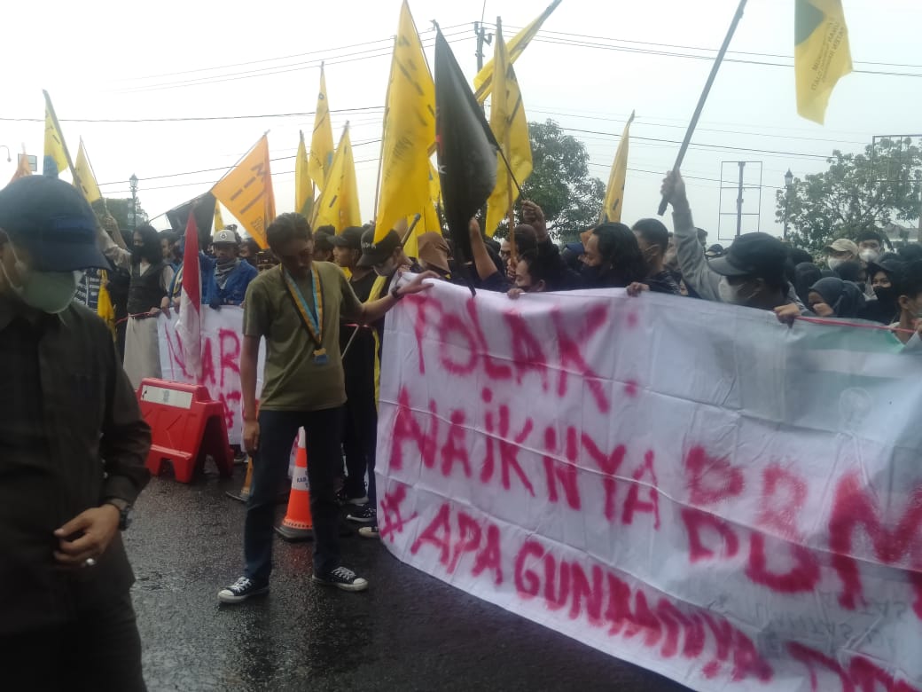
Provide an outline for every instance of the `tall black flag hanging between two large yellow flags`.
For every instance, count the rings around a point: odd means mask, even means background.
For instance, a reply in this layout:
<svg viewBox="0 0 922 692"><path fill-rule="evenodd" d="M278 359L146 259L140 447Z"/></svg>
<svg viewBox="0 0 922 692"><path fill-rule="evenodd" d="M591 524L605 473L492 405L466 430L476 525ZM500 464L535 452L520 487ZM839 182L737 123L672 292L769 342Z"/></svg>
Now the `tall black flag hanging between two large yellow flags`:
<svg viewBox="0 0 922 692"><path fill-rule="evenodd" d="M442 31L435 36L435 142L448 232L470 261L467 224L496 186L499 146Z"/></svg>

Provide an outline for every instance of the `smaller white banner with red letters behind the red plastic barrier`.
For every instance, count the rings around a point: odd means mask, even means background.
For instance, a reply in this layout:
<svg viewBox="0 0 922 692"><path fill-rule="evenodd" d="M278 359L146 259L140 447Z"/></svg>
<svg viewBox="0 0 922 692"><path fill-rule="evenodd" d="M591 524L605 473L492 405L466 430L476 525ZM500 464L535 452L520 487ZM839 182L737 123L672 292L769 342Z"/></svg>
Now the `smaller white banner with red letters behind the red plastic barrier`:
<svg viewBox="0 0 922 692"><path fill-rule="evenodd" d="M243 342L243 310L225 306L219 310L202 305L202 384L212 400L224 404L224 419L231 445L241 444L243 435L242 392L240 386L240 352ZM195 384L183 360L181 341L176 335L179 316L158 318L160 339L160 370L163 379ZM266 344L259 345L259 368L256 396L263 387L263 365Z"/></svg>

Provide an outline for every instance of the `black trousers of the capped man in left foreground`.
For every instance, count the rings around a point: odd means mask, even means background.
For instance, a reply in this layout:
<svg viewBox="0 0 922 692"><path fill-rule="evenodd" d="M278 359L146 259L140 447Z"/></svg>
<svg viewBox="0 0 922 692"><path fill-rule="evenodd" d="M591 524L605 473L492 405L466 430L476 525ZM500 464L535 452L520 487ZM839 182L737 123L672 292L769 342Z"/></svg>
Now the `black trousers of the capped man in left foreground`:
<svg viewBox="0 0 922 692"><path fill-rule="evenodd" d="M131 596L80 612L62 626L0 636L0 687L145 692Z"/></svg>

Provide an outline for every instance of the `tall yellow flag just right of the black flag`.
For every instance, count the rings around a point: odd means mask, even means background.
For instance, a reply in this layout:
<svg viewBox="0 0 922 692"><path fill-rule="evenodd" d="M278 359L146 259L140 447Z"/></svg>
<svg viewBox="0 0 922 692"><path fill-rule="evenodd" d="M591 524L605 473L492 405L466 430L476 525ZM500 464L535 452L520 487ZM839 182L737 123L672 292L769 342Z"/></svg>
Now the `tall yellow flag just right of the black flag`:
<svg viewBox="0 0 922 692"><path fill-rule="evenodd" d="M496 160L496 187L487 201L486 233L492 237L497 226L512 209L518 199L518 189L512 180L522 185L531 174L531 141L528 139L528 120L522 106L522 92L519 90L515 71L509 61L506 45L502 41L502 26L497 21L494 41L493 64L496 73L493 82L493 96L490 104L490 127L496 141L502 147L506 161L512 168L512 175L506 168L502 156Z"/></svg>

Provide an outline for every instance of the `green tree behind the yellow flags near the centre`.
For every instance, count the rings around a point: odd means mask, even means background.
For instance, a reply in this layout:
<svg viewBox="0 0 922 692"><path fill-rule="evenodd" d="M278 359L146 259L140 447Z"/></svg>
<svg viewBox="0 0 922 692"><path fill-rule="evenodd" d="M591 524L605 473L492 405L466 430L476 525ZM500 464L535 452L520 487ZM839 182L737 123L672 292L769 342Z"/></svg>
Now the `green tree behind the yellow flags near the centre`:
<svg viewBox="0 0 922 692"><path fill-rule="evenodd" d="M605 184L589 176L589 154L583 143L564 135L553 120L529 123L528 134L533 170L519 199L530 199L544 211L548 231L556 240L578 240L579 233L598 221ZM496 236L506 233L502 226Z"/></svg>

